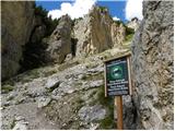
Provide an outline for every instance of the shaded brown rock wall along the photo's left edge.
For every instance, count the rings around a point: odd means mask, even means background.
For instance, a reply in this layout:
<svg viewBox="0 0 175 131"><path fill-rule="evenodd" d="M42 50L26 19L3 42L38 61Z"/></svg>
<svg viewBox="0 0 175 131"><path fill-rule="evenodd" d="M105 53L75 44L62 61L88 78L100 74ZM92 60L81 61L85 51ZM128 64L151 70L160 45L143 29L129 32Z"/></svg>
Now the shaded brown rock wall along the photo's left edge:
<svg viewBox="0 0 175 131"><path fill-rule="evenodd" d="M22 48L33 25L34 2L1 2L2 9L2 80L16 74Z"/></svg>

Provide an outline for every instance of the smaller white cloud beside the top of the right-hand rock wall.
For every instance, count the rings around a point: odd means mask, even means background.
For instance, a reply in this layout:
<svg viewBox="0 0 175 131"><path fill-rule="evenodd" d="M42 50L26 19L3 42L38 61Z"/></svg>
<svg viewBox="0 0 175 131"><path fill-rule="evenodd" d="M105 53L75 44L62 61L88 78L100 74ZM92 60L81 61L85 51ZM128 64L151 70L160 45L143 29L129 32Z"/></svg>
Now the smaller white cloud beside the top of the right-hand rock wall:
<svg viewBox="0 0 175 131"><path fill-rule="evenodd" d="M125 9L127 20L131 20L133 17L138 17L139 20L143 19L142 1L143 0L127 0Z"/></svg>

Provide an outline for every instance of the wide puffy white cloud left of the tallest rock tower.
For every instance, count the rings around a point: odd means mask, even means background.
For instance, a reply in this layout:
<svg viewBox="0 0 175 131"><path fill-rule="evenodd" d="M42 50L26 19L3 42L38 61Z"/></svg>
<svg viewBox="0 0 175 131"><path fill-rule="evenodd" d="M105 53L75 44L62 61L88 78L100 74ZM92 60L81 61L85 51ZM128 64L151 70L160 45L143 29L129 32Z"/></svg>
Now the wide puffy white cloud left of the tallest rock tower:
<svg viewBox="0 0 175 131"><path fill-rule="evenodd" d="M51 19L59 19L61 15L69 14L71 19L78 19L89 13L96 0L75 0L73 3L62 2L60 9L51 10L48 15Z"/></svg>

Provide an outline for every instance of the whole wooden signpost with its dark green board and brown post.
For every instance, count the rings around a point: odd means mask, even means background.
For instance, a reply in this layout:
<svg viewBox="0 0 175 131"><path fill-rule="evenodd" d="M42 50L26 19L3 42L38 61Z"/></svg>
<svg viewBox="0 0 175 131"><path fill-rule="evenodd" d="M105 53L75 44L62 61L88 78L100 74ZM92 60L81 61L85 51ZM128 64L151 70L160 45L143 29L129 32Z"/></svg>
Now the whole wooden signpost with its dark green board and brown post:
<svg viewBox="0 0 175 131"><path fill-rule="evenodd" d="M124 129L122 95L131 95L130 53L105 61L105 96L115 96L118 130Z"/></svg>

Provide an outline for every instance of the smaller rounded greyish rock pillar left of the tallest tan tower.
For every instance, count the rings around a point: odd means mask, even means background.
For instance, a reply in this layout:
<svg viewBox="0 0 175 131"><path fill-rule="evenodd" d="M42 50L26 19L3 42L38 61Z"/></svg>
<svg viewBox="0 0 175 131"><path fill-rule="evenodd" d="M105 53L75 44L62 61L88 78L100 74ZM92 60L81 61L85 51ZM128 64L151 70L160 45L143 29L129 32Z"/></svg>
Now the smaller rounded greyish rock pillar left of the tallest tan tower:
<svg viewBox="0 0 175 131"><path fill-rule="evenodd" d="M51 62L61 63L68 53L71 53L71 19L63 15L52 32L47 52Z"/></svg>

